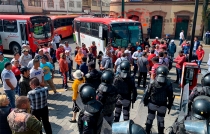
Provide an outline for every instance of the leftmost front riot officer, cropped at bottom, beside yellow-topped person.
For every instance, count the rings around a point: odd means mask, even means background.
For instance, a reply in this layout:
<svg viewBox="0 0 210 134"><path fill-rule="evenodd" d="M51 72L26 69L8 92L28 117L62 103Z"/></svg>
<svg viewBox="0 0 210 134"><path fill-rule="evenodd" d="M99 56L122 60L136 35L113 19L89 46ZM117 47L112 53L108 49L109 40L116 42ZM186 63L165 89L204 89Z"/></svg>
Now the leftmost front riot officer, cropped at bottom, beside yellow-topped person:
<svg viewBox="0 0 210 134"><path fill-rule="evenodd" d="M78 117L78 128L81 134L100 134L103 114L102 104L96 100L96 91L88 84L79 86L79 94L84 104Z"/></svg>

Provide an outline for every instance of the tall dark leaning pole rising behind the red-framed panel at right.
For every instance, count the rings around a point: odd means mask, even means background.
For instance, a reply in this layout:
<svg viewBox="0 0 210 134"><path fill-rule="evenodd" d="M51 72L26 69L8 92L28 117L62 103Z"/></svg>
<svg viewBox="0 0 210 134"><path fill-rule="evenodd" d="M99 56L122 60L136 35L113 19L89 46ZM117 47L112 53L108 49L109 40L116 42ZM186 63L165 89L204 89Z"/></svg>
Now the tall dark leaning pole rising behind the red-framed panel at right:
<svg viewBox="0 0 210 134"><path fill-rule="evenodd" d="M193 18L192 34L191 34L189 62L191 62L191 60L192 60L192 51L193 51L193 47L194 47L194 37L195 37L195 27L196 27L197 14L198 14L198 4L199 4L199 0L195 0L195 11L194 11L194 18Z"/></svg>

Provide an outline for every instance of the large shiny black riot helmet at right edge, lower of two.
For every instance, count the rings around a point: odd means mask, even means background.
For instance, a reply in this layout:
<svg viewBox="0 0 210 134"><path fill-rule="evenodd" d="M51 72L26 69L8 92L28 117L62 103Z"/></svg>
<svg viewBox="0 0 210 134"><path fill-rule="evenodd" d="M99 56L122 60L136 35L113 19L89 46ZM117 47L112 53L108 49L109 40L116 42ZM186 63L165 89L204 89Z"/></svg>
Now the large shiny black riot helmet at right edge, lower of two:
<svg viewBox="0 0 210 134"><path fill-rule="evenodd" d="M197 119L204 120L210 117L210 97L198 96L192 104L192 115Z"/></svg>

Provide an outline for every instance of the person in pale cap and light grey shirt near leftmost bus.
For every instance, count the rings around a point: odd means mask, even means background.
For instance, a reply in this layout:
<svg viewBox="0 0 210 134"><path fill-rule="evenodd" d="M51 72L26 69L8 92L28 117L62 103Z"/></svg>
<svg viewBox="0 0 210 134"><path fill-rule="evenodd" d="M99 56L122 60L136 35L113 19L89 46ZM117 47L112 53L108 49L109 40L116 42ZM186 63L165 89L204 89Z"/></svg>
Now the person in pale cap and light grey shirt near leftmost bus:
<svg viewBox="0 0 210 134"><path fill-rule="evenodd" d="M29 61L32 59L32 56L29 54L28 49L23 49L22 54L20 56L20 65L21 66L27 66Z"/></svg>

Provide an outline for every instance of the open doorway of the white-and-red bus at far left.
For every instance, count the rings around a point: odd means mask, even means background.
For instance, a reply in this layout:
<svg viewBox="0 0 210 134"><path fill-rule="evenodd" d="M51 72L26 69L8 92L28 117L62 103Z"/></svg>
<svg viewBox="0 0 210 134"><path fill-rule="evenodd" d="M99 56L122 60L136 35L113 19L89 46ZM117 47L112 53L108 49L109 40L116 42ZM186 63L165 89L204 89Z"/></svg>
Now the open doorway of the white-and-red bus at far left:
<svg viewBox="0 0 210 134"><path fill-rule="evenodd" d="M26 22L18 22L18 23L20 28L21 42L22 44L26 44L28 43L27 23Z"/></svg>

